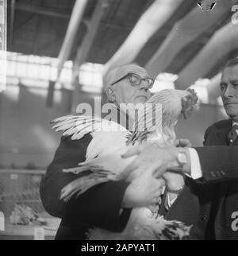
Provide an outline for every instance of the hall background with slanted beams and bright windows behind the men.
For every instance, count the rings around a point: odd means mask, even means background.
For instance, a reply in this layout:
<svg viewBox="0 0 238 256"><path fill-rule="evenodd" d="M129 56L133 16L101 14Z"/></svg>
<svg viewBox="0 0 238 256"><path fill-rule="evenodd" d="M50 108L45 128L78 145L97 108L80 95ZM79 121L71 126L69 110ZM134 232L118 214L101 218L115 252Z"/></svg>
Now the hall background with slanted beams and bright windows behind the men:
<svg viewBox="0 0 238 256"><path fill-rule="evenodd" d="M194 147L228 118L221 70L238 56L238 1L206 2L0 1L0 240L54 239L60 219L44 210L39 192L62 136L51 121L80 103L106 103L104 78L113 68L145 68L155 79L152 95L194 89L199 109L176 126Z"/></svg>

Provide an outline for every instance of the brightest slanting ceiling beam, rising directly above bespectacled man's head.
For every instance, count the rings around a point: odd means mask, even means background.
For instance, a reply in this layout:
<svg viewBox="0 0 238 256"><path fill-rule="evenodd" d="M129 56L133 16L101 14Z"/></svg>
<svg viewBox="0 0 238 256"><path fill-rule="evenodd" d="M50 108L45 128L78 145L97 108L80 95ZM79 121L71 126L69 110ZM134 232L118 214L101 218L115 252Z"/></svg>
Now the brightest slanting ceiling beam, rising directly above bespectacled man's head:
<svg viewBox="0 0 238 256"><path fill-rule="evenodd" d="M142 14L129 37L106 63L104 75L109 69L132 63L148 40L165 24L182 2L183 0L155 0Z"/></svg>

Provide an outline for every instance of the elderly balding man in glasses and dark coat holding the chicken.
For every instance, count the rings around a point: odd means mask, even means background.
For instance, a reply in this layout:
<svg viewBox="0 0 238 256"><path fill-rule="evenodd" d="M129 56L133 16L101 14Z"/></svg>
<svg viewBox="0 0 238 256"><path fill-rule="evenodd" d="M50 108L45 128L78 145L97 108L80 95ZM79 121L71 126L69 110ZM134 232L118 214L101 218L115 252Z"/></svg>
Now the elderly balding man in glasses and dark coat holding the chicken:
<svg viewBox="0 0 238 256"><path fill-rule="evenodd" d="M112 104L112 111L116 113L110 114L109 118L116 117L113 121L120 123L120 118L125 118L130 129L133 119L123 114L121 103L145 103L151 96L149 89L153 83L154 80L145 69L136 64L109 72L106 76L106 95ZM90 134L76 141L62 137L55 157L41 181L40 196L45 210L62 219L56 239L85 239L85 233L90 227L123 231L129 219L130 206L144 200L138 198L136 185L125 181L100 184L67 203L59 200L61 189L77 178L71 173L63 173L62 169L69 169L85 161L86 148L91 140ZM125 207L122 212L121 207Z"/></svg>

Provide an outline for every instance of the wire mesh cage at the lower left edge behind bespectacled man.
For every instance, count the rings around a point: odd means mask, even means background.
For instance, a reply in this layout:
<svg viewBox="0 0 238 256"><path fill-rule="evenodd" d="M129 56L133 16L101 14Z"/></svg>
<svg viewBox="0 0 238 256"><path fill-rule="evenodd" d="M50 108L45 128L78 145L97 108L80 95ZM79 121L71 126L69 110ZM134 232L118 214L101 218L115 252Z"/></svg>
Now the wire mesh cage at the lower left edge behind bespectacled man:
<svg viewBox="0 0 238 256"><path fill-rule="evenodd" d="M0 169L0 211L10 217L17 204L36 213L44 212L40 201L40 180L44 170Z"/></svg>

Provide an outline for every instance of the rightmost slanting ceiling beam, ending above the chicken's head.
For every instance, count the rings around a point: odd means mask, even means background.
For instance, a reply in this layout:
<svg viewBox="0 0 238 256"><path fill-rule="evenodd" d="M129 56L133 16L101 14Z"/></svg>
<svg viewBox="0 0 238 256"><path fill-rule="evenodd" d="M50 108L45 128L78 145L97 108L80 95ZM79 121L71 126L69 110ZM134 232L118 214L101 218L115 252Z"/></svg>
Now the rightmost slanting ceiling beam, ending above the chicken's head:
<svg viewBox="0 0 238 256"><path fill-rule="evenodd" d="M221 60L228 58L229 52L238 48L238 25L229 22L211 37L209 42L198 52L197 56L178 74L175 86L185 89L198 78L205 75Z"/></svg>

